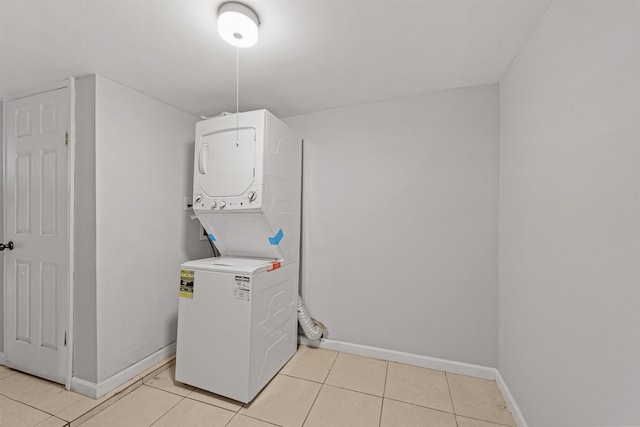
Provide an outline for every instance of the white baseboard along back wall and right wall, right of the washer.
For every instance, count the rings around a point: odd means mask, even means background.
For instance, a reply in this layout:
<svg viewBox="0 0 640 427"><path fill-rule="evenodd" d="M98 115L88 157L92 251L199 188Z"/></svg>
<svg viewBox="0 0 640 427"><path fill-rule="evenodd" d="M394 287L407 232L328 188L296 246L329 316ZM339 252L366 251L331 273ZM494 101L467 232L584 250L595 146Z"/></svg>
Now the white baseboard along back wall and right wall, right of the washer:
<svg viewBox="0 0 640 427"><path fill-rule="evenodd" d="M298 336L298 342L308 347L318 347L327 350L341 351L344 353L357 354L358 356L372 357L374 359L388 360L390 362L404 363L406 365L418 366L421 368L436 369L438 371L450 372L452 374L469 375L471 377L494 380L502 392L502 397L507 408L513 415L513 420L518 427L528 427L527 422L520 411L509 387L505 383L502 375L496 368L488 366L474 365L471 363L456 362L453 360L439 359L437 357L422 356L419 354L403 353L401 351L387 350L378 347L346 343L328 339L311 341L304 335Z"/></svg>

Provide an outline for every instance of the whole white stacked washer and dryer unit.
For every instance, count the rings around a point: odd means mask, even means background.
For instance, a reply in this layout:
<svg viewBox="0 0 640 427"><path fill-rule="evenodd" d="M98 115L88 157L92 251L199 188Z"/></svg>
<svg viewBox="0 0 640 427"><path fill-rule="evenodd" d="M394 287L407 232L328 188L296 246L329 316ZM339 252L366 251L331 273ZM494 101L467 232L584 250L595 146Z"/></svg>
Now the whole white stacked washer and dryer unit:
<svg viewBox="0 0 640 427"><path fill-rule="evenodd" d="M267 110L197 123L193 210L221 256L181 266L177 381L249 402L296 352L301 174Z"/></svg>

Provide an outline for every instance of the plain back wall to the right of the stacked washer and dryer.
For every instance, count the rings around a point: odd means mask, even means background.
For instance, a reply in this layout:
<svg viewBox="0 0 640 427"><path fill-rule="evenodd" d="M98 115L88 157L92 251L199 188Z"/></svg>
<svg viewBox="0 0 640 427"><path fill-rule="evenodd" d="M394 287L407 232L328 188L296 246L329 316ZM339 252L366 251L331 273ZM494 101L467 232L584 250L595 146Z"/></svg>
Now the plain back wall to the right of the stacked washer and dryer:
<svg viewBox="0 0 640 427"><path fill-rule="evenodd" d="M328 338L496 366L497 87L285 121L305 138L302 295Z"/></svg>

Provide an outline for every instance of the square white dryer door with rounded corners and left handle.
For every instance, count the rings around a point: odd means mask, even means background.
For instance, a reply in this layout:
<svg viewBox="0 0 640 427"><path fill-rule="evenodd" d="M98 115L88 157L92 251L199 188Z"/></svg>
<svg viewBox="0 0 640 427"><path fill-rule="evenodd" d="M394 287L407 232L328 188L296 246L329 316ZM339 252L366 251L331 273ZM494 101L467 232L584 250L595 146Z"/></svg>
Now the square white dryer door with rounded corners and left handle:
<svg viewBox="0 0 640 427"><path fill-rule="evenodd" d="M202 135L196 175L209 197L242 195L255 180L256 129L225 129Z"/></svg>

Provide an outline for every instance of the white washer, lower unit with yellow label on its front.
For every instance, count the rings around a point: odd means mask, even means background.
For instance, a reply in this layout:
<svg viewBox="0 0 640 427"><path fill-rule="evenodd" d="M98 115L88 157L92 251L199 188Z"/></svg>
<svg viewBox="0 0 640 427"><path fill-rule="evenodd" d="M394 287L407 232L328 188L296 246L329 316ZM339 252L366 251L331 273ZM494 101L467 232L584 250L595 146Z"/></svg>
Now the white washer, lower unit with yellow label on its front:
<svg viewBox="0 0 640 427"><path fill-rule="evenodd" d="M176 380L251 401L296 352L297 279L298 262L182 264Z"/></svg>

